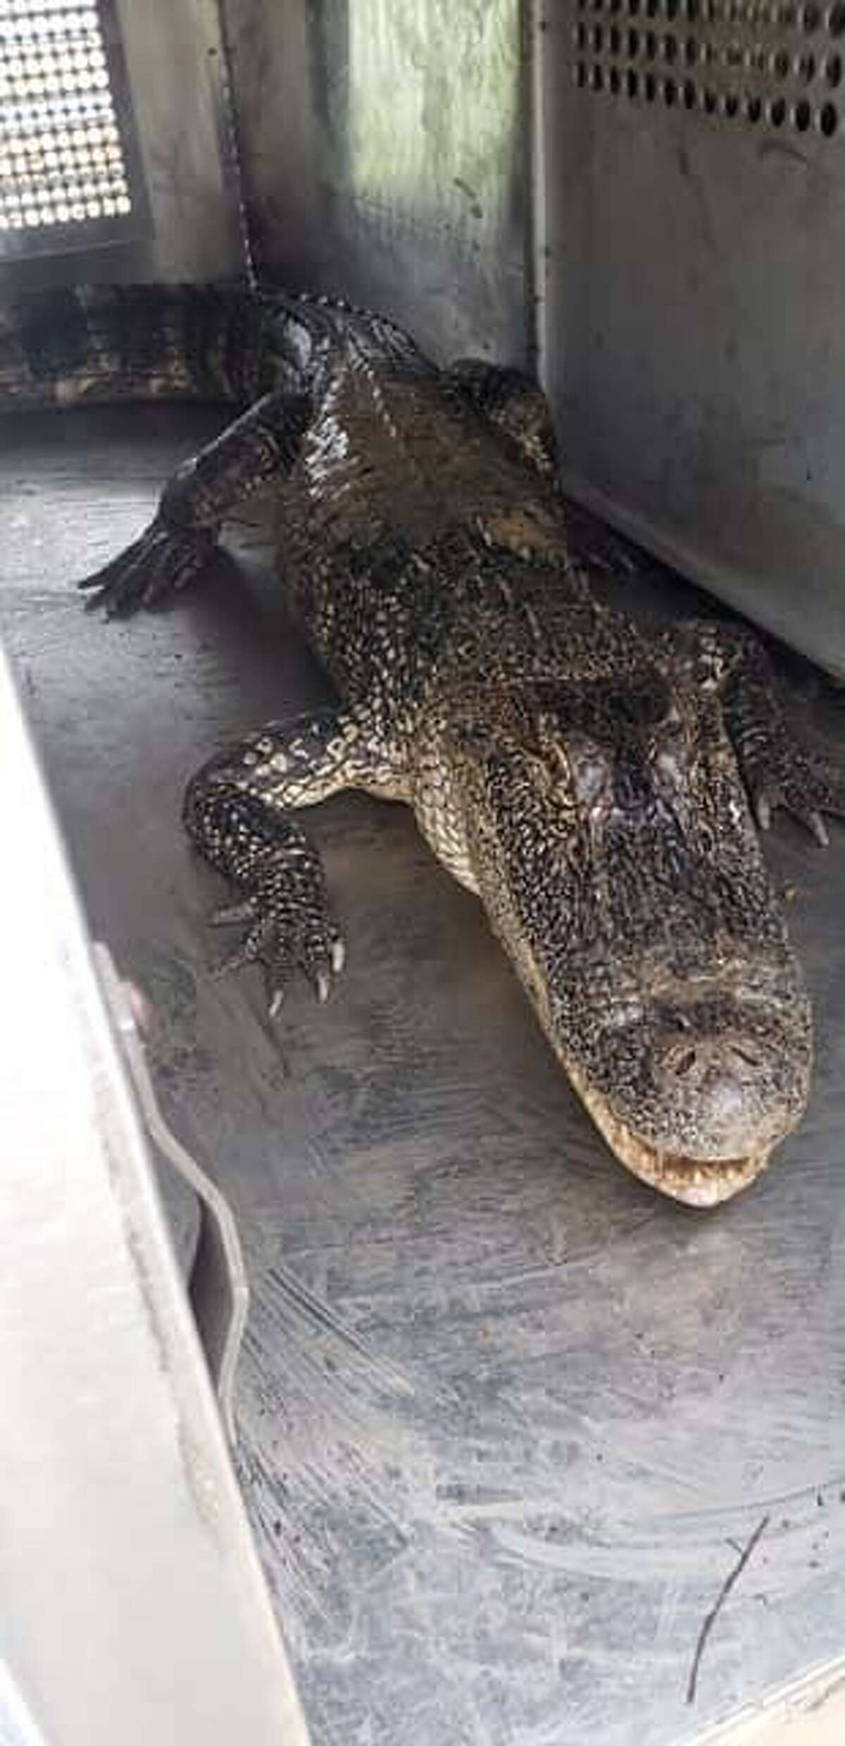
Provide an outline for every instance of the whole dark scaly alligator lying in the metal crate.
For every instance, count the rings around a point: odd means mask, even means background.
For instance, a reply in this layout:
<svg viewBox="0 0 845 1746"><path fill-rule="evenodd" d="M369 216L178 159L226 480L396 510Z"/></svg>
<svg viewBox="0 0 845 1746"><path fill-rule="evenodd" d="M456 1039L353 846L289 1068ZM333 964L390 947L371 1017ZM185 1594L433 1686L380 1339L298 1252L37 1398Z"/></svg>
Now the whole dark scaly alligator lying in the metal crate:
<svg viewBox="0 0 845 1746"><path fill-rule="evenodd" d="M182 590L250 494L337 705L271 721L189 782L187 831L236 887L215 920L319 999L344 943L295 817L344 787L402 800L475 892L616 1158L712 1206L798 1124L812 1014L758 831L826 842L845 775L801 747L740 622L651 632L595 592L629 548L562 494L531 379L440 368L342 300L75 288L0 313L5 409L206 396L239 416L80 587L106 615Z"/></svg>

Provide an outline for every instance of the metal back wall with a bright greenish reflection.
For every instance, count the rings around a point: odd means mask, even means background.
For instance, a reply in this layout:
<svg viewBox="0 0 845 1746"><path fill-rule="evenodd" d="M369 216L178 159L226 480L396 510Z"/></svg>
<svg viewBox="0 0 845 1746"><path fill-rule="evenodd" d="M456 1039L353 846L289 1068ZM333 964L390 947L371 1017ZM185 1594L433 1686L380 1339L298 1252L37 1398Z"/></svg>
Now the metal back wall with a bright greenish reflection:
<svg viewBox="0 0 845 1746"><path fill-rule="evenodd" d="M519 0L223 0L257 265L436 354L529 344Z"/></svg>

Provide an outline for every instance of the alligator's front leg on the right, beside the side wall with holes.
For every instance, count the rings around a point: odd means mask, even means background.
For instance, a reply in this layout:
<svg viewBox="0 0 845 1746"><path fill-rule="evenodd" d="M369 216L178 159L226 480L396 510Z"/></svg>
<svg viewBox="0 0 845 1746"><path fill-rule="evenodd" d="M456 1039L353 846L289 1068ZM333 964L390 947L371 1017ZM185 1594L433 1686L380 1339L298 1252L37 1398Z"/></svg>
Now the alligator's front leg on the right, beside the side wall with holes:
<svg viewBox="0 0 845 1746"><path fill-rule="evenodd" d="M763 831L777 807L793 814L824 847L824 814L845 817L845 770L801 746L787 721L777 679L758 637L742 625L681 625L697 679L721 697L740 775Z"/></svg>

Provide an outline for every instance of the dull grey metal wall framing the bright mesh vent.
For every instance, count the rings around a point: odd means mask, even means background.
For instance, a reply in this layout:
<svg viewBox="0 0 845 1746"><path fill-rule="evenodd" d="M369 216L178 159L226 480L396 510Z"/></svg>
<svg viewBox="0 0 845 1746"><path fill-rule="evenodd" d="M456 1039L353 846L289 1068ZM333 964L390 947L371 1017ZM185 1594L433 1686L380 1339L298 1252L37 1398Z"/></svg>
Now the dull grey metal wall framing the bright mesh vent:
<svg viewBox="0 0 845 1746"><path fill-rule="evenodd" d="M0 292L244 271L216 0L117 0L152 223L133 243L5 260Z"/></svg>

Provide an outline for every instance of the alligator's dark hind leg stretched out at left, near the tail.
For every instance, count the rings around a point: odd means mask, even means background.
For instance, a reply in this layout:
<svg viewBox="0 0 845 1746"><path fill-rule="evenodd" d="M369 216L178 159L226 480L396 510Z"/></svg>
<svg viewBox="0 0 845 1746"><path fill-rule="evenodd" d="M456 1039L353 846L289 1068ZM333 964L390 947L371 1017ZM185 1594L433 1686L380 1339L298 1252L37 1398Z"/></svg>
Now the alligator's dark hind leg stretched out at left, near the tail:
<svg viewBox="0 0 845 1746"><path fill-rule="evenodd" d="M89 608L126 616L185 588L213 552L222 522L274 475L290 471L311 417L306 395L265 395L168 480L133 545L79 587Z"/></svg>

